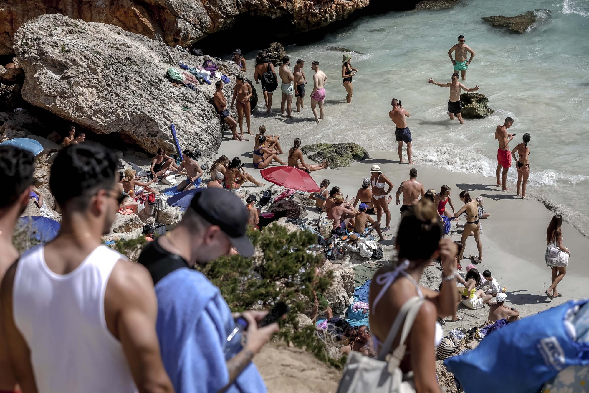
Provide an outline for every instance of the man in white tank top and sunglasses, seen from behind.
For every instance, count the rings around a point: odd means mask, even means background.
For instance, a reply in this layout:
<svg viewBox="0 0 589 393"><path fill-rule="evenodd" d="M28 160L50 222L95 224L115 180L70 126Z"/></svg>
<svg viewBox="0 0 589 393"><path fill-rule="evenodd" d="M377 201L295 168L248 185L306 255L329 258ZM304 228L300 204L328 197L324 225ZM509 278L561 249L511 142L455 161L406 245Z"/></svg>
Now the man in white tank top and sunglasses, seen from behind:
<svg viewBox="0 0 589 393"><path fill-rule="evenodd" d="M61 150L49 179L61 230L6 272L2 323L25 393L173 392L151 277L101 245L123 196L115 170L101 145Z"/></svg>

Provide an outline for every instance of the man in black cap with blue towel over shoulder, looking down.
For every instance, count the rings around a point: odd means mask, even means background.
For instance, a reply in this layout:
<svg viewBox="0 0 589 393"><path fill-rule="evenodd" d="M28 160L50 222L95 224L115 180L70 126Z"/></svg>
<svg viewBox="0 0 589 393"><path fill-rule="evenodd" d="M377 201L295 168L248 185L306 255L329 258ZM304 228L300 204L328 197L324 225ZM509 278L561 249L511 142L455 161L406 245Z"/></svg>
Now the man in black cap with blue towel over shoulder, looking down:
<svg viewBox="0 0 589 393"><path fill-rule="evenodd" d="M246 343L226 361L227 338L236 329L233 315L219 288L191 268L229 255L233 248L252 256L247 218L236 195L203 189L177 227L148 244L139 257L155 284L161 357L176 392L267 390L252 359L279 330L278 324L258 327L266 312L242 313Z"/></svg>

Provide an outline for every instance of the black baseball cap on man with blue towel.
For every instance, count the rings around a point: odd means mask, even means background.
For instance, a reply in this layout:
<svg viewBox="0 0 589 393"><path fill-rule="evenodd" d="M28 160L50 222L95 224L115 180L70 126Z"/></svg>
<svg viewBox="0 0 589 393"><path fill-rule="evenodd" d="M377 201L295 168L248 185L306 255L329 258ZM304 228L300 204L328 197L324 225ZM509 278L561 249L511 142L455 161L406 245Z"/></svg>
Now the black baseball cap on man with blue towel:
<svg viewBox="0 0 589 393"><path fill-rule="evenodd" d="M254 254L254 247L246 235L249 214L235 194L221 188L206 188L194 195L190 208L210 224L221 228L242 256Z"/></svg>

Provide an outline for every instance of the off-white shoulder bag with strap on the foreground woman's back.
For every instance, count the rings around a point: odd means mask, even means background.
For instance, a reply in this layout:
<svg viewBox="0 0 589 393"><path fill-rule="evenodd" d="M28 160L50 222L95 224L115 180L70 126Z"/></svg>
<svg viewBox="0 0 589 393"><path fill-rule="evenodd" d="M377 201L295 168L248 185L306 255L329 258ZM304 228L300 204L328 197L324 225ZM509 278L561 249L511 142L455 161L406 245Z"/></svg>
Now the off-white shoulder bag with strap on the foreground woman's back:
<svg viewBox="0 0 589 393"><path fill-rule="evenodd" d="M399 364L405 356L405 340L424 301L414 296L403 304L376 358L369 358L360 352L350 352L337 393L415 393L412 381L403 378ZM399 346L389 355L399 331ZM385 360L387 356L388 359Z"/></svg>

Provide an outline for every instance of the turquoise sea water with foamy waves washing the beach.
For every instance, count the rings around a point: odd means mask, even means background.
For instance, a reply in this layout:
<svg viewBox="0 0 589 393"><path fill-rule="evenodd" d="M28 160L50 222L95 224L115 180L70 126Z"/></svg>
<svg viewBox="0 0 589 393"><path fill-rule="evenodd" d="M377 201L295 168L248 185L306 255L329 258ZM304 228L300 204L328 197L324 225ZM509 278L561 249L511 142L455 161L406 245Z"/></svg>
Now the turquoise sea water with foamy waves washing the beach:
<svg viewBox="0 0 589 393"><path fill-rule="evenodd" d="M550 17L525 34L481 20L535 8L550 10ZM449 89L426 83L428 77L449 81L452 64L447 52L459 34L476 53L464 84L480 86L478 93L485 94L497 111L487 119L465 120L462 126L448 119ZM353 80L351 105L345 103L340 77L342 53L326 50L331 45L363 53L352 58L359 73ZM524 133L532 136L528 193L568 214L589 215L589 0L463 0L453 9L360 18L320 41L286 50L293 66L296 58L307 61L308 80L313 60L319 60L329 77L325 121L320 126L296 123L305 143L358 142L367 149L391 150L391 158L398 159L388 117L394 97L411 113L408 125L416 160L494 177L495 127L511 116L516 122L510 131L517 134L511 149ZM255 53L247 58L253 57ZM512 189L515 179L514 166L508 180Z"/></svg>

